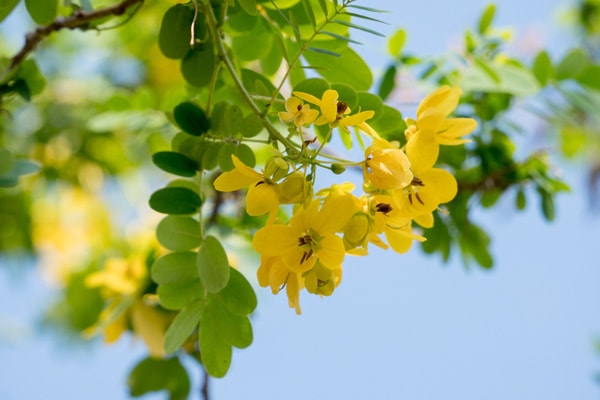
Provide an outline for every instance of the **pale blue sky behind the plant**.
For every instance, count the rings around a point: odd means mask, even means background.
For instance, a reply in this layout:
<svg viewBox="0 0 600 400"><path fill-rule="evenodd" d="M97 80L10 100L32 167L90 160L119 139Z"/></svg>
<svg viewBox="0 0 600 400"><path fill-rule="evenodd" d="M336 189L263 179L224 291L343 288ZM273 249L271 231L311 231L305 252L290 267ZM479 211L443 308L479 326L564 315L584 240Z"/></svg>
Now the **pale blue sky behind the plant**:
<svg viewBox="0 0 600 400"><path fill-rule="evenodd" d="M560 54L567 39L557 8L568 2L500 3L499 26L522 37L535 26L541 44ZM436 54L474 26L486 4L369 5L394 9L384 29L405 28L409 50ZM377 66L385 41L370 40L365 54ZM212 398L597 398L600 215L588 209L583 166L555 161L573 191L558 197L554 223L534 202L515 213L510 194L493 211L475 210L493 238L492 271L465 269L457 257L442 264L417 248L348 258L335 295L303 296L302 316L282 295L259 289L254 343L235 351L226 378L212 381ZM30 328L51 297L33 273L15 279L0 268L0 398L126 399L142 346L125 339L65 351Z"/></svg>

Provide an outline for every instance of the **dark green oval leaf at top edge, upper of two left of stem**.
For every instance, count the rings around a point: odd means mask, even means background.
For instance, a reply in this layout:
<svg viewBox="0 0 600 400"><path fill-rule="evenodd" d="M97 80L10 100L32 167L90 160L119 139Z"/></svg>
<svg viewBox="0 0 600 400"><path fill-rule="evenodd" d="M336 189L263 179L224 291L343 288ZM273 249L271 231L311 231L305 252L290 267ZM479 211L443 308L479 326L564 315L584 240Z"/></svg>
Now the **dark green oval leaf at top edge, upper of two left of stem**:
<svg viewBox="0 0 600 400"><path fill-rule="evenodd" d="M190 50L194 10L183 4L169 8L158 32L158 47L167 58L180 59Z"/></svg>

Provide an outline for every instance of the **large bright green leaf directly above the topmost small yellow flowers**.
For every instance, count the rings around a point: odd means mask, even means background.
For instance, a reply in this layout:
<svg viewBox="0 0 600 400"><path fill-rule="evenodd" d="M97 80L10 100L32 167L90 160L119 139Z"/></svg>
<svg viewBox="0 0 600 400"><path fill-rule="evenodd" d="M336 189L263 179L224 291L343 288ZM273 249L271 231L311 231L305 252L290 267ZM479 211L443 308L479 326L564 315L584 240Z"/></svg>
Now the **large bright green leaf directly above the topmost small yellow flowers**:
<svg viewBox="0 0 600 400"><path fill-rule="evenodd" d="M336 49L340 57L306 52L304 57L317 73L330 82L345 83L356 90L368 90L373 83L371 68L349 47Z"/></svg>

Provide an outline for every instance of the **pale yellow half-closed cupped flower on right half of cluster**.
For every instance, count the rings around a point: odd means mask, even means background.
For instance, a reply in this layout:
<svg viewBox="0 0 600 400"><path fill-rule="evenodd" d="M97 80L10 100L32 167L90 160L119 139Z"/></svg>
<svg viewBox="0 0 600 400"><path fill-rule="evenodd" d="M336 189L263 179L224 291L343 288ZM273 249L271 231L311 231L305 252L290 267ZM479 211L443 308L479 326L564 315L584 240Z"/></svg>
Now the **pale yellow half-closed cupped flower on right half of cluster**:
<svg viewBox="0 0 600 400"><path fill-rule="evenodd" d="M374 140L365 150L365 183L378 189L394 190L407 186L413 179L406 154L384 139Z"/></svg>

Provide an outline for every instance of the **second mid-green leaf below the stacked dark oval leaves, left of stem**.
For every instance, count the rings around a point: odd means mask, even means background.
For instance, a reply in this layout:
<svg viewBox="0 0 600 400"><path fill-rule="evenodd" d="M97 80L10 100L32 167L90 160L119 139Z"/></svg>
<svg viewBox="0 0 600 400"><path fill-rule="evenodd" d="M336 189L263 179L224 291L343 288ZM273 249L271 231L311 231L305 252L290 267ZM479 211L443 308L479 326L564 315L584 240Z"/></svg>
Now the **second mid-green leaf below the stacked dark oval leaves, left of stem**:
<svg viewBox="0 0 600 400"><path fill-rule="evenodd" d="M191 282L198 278L197 257L193 251L167 253L154 261L150 276L159 285Z"/></svg>

